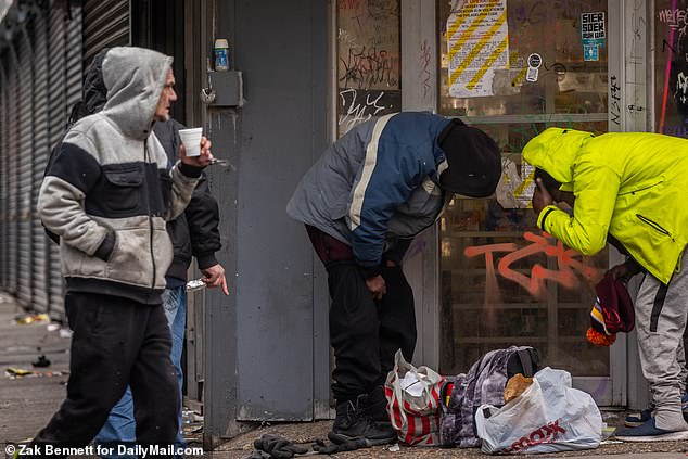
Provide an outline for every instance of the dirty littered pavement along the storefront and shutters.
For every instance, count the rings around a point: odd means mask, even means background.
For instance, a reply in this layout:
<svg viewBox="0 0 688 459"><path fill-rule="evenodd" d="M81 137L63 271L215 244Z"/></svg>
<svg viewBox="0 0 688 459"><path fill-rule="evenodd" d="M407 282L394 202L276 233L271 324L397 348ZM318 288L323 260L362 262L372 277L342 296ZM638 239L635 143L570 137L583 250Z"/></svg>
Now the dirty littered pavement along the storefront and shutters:
<svg viewBox="0 0 688 459"><path fill-rule="evenodd" d="M71 334L48 317L28 314L8 294L0 292L0 447L3 455L8 443L30 438L50 419L65 394L68 379ZM625 411L602 411L610 426L622 426ZM184 434L190 446L200 446L202 415L184 410ZM332 421L311 423L277 423L256 425L220 445L204 458L245 459L253 450L253 441L264 433L275 433L297 444L310 446L327 438ZM354 458L481 458L480 449L443 449L400 446L378 446L332 457ZM311 452L313 454L313 452ZM526 455L521 455L526 456ZM585 451L558 452L532 457L674 459L688 458L688 442L617 443L606 442L599 448ZM7 457L3 456L3 457ZM85 456L87 457L87 456Z"/></svg>

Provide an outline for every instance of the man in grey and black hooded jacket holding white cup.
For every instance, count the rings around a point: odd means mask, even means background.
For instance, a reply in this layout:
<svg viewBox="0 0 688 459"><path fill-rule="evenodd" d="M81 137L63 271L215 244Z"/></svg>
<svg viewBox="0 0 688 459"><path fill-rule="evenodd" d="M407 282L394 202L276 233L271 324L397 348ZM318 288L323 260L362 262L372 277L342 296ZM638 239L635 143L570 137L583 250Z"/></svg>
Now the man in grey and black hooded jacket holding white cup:
<svg viewBox="0 0 688 459"><path fill-rule="evenodd" d="M27 452L86 446L130 385L137 443L169 447L178 384L161 305L173 247L165 221L189 203L211 142L167 169L155 136L177 98L171 58L113 48L103 60L107 102L65 136L43 180L38 212L60 237L65 308L74 331L67 398ZM164 455L173 455L165 451Z"/></svg>

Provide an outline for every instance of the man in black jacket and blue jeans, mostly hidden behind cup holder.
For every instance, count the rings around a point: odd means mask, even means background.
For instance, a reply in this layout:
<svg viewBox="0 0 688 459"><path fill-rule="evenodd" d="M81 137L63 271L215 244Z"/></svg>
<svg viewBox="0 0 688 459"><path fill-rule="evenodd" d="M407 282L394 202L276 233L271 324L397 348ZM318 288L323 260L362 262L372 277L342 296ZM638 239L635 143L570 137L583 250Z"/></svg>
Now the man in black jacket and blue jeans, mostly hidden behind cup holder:
<svg viewBox="0 0 688 459"><path fill-rule="evenodd" d="M107 51L110 48L99 51L89 64L84 78L84 100L79 101L72 110L69 126L85 116L100 112L107 102L107 88L105 88L103 80L103 59ZM180 129L184 129L184 126L174 118L169 118L167 122L158 120L153 127L153 133L167 153L168 167L171 167L179 160ZM60 143L53 149L46 170L50 169ZM167 232L173 242L175 256L165 276L167 285L162 298L173 340L170 357L180 390L183 385L181 354L187 323L187 270L192 257L196 258L199 270L204 275L206 286L221 288L226 295L229 294L225 269L215 258L215 252L221 247L218 226L217 201L211 194L207 177L202 174L184 212L174 220L167 221ZM60 238L50 231L47 233L58 245L60 244ZM179 399L182 400L181 391ZM181 429L181 415L180 409L180 429L175 447L184 449L187 443ZM98 450L101 451L103 458L136 458L137 455L117 452L119 445L128 446L135 443L133 398L131 391L127 388L122 399L113 407L103 428L93 438L93 445L99 448Z"/></svg>

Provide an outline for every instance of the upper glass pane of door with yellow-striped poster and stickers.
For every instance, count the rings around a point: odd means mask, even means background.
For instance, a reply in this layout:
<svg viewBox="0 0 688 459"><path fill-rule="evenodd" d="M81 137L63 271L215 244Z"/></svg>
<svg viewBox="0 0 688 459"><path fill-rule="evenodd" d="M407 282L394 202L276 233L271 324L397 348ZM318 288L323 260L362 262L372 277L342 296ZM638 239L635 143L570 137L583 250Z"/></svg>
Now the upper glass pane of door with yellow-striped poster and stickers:
<svg viewBox="0 0 688 459"><path fill-rule="evenodd" d="M606 38L582 38L582 21L606 36L606 0L438 0L437 11L442 114L607 116Z"/></svg>

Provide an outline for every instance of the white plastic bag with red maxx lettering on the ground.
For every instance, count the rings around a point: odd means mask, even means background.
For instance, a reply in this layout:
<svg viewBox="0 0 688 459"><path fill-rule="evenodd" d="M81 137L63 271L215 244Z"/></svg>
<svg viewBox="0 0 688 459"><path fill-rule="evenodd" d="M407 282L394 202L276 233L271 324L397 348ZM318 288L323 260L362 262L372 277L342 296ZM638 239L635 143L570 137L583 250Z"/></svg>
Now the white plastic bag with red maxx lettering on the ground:
<svg viewBox="0 0 688 459"><path fill-rule="evenodd" d="M602 416L593 397L571 387L568 371L549 367L504 407L482 405L475 424L488 454L591 449L602 439Z"/></svg>

